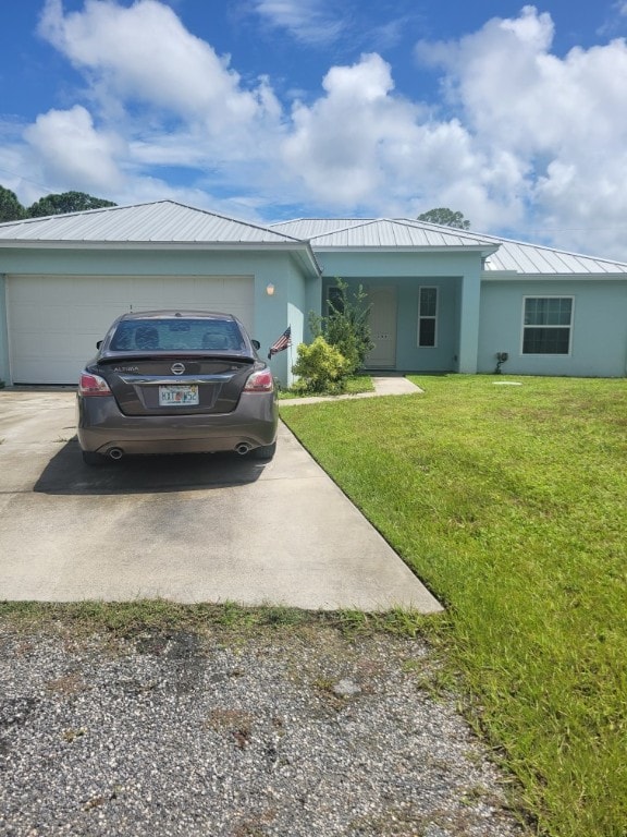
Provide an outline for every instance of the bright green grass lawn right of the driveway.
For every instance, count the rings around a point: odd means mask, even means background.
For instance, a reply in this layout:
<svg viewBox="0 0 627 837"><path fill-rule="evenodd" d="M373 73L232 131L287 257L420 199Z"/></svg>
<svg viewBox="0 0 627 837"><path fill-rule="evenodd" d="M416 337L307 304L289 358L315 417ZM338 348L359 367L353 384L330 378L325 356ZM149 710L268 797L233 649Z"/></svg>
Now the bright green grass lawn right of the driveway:
<svg viewBox="0 0 627 837"><path fill-rule="evenodd" d="M625 837L627 381L413 379L282 417L446 606L426 630L539 832Z"/></svg>

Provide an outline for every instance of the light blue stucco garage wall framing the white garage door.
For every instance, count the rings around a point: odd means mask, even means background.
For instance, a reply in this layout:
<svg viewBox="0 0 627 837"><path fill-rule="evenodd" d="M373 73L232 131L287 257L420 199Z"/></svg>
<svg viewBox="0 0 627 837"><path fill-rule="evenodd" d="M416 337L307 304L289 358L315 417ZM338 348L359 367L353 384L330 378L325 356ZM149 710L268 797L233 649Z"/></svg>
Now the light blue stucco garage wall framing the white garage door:
<svg viewBox="0 0 627 837"><path fill-rule="evenodd" d="M292 324L293 340L304 339L309 307L320 311L321 282L298 256L286 251L183 251L183 250L4 250L0 276L251 276L255 279L253 337L261 343L261 356ZM268 284L274 294L267 293ZM101 335L95 336L95 339ZM276 355L272 371L287 383L287 352ZM0 376L9 375L5 282L0 281Z"/></svg>

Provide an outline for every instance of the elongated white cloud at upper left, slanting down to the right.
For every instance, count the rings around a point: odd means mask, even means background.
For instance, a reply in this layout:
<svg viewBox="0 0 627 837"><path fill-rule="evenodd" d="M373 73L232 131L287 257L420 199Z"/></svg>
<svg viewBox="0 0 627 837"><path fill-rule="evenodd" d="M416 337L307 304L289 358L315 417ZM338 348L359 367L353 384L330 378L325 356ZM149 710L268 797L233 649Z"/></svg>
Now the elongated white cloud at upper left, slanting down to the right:
<svg viewBox="0 0 627 837"><path fill-rule="evenodd" d="M90 75L102 99L163 109L201 123L209 137L245 130L276 110L266 84L243 89L229 58L192 35L157 0L128 8L86 0L84 11L67 14L61 0L47 0L39 32Z"/></svg>

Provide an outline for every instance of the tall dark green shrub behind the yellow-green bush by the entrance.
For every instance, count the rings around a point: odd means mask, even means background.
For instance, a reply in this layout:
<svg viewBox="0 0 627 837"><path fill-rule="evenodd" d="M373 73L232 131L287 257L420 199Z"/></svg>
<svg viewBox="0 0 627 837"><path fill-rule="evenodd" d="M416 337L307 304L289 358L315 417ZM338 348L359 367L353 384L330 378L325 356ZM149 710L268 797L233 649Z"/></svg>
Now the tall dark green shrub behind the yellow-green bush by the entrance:
<svg viewBox="0 0 627 837"><path fill-rule="evenodd" d="M339 278L336 282L327 300L328 316L311 314L309 328L315 337L322 336L346 359L348 376L364 366L368 352L373 348L370 339L370 305L362 286L349 294L347 282Z"/></svg>

